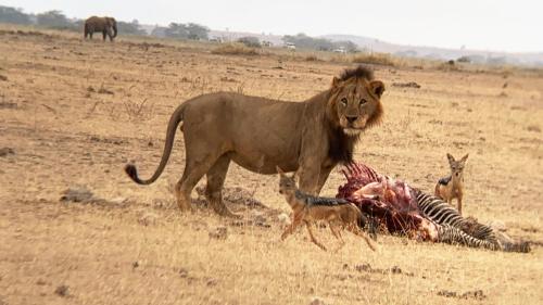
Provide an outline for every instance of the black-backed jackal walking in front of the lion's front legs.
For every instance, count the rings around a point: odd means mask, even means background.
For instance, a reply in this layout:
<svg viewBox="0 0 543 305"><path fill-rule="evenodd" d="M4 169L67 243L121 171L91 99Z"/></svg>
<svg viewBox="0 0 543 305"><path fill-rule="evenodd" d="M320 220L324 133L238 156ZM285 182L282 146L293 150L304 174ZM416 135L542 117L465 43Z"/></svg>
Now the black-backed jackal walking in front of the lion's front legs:
<svg viewBox="0 0 543 305"><path fill-rule="evenodd" d="M375 251L375 246L361 229L368 219L356 205L343 199L320 198L303 193L296 187L294 175L289 177L279 167L277 167L277 173L279 173L279 193L285 195L293 211L292 224L281 234L281 240L285 240L300 225L305 225L311 241L326 251L326 246L315 239L312 230L313 223L325 220L328 223L332 234L341 242L341 245L337 250L345 244L341 237L341 231L348 229L356 236L364 238L368 246Z"/></svg>

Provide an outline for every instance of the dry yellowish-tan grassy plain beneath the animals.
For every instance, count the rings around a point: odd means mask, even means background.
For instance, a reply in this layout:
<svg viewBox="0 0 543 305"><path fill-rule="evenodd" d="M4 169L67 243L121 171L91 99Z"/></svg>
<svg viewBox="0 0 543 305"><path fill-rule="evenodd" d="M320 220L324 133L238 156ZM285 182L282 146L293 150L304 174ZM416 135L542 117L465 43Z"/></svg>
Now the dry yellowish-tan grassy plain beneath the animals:
<svg viewBox="0 0 543 305"><path fill-rule="evenodd" d="M136 186L123 166L135 161L151 175L171 113L191 97L227 90L302 101L346 64L1 29L0 304L543 303L541 77L376 66L388 86L386 119L355 155L431 192L449 171L445 153L469 152L465 214L505 225L534 242L531 253L387 236L378 252L346 236L329 253L305 231L280 242L277 214L290 211L278 178L236 165L226 187L242 220L215 216L195 191L200 208L180 215L172 192L184 168L179 134L154 185ZM392 86L408 81L421 88ZM334 171L324 194L341 183ZM60 201L77 186L102 200ZM318 238L336 243L325 229Z"/></svg>

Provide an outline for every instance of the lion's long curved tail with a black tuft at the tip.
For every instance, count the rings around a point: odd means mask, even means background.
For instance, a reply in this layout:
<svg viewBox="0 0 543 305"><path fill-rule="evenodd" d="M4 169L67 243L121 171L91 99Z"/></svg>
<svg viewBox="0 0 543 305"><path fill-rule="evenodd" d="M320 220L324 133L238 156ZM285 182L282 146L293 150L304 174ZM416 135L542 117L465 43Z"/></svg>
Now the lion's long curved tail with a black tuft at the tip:
<svg viewBox="0 0 543 305"><path fill-rule="evenodd" d="M174 139L175 139L175 132L177 129L177 126L179 123L182 120L182 113L185 111L185 103L179 105L175 112L172 114L172 117L169 118L168 123L168 128L166 131L166 143L164 143L164 152L162 153L162 158L161 163L159 164L159 167L154 171L153 176L147 180L141 180L138 177L138 169L136 169L136 165L129 163L125 165L125 171L130 177L138 185L151 185L159 177L161 176L162 171L164 170L164 167L166 167L166 164L169 158L169 154L172 153L172 147L174 145Z"/></svg>

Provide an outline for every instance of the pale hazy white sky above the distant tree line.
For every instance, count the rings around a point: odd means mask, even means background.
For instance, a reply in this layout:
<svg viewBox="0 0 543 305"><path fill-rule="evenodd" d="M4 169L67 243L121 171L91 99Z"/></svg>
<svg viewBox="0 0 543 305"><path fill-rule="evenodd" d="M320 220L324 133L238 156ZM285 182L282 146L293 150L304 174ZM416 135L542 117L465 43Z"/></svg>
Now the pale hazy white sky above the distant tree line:
<svg viewBox="0 0 543 305"><path fill-rule="evenodd" d="M402 45L543 52L540 0L0 0L0 4L33 13L61 10L79 18L111 15L143 24L193 22L223 30L351 34Z"/></svg>

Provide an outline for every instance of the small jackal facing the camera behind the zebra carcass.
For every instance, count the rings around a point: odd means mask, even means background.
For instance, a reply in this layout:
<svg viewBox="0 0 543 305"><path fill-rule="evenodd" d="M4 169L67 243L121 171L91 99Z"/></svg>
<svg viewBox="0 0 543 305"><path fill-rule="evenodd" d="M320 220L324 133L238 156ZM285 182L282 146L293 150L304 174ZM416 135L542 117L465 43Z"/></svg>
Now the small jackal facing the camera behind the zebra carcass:
<svg viewBox="0 0 543 305"><path fill-rule="evenodd" d="M462 198L464 196L464 166L469 154L466 154L460 160L454 160L450 153L446 154L449 165L451 166L451 175L439 179L435 185L435 196L441 198L449 204L453 204L453 199L458 202L458 213L462 215Z"/></svg>

